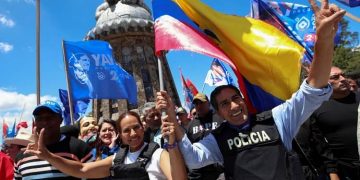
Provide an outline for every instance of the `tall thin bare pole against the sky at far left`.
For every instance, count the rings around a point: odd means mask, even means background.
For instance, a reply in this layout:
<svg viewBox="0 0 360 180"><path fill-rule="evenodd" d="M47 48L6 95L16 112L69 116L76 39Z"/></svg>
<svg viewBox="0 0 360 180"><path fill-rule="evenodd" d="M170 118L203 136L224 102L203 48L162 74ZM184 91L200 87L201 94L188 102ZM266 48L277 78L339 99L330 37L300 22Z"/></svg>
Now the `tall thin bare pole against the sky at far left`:
<svg viewBox="0 0 360 180"><path fill-rule="evenodd" d="M40 0L36 0L36 103L40 104Z"/></svg>

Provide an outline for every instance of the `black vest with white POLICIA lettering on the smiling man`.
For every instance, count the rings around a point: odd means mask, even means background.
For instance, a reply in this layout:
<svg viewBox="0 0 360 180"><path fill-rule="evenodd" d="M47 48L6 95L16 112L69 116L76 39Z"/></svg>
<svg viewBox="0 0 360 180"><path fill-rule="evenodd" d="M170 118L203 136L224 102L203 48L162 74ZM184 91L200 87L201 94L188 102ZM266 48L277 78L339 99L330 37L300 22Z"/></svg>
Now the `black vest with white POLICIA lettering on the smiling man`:
<svg viewBox="0 0 360 180"><path fill-rule="evenodd" d="M298 157L283 145L271 111L240 132L228 122L212 132L224 158L226 179L304 179Z"/></svg>

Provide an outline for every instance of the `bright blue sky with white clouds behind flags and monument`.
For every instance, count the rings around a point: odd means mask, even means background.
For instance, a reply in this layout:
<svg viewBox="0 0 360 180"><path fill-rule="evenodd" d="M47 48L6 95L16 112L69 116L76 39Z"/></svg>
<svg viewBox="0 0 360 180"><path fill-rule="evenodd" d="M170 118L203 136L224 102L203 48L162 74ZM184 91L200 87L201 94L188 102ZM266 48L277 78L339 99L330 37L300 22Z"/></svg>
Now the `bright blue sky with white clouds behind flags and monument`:
<svg viewBox="0 0 360 180"><path fill-rule="evenodd" d="M95 9L103 0L41 1L41 100L58 100L58 89L66 89L61 41L79 41L95 26ZM150 5L150 0L145 0ZM245 16L246 0L203 0L228 14ZM306 0L288 2L308 4ZM334 2L334 1L330 1ZM339 4L338 2L335 2ZM345 8L360 17L360 7ZM359 23L350 20L350 30L359 31ZM0 120L31 120L36 106L35 79L35 0L0 0ZM177 51L167 56L176 88L183 99L179 68L201 90L212 58ZM230 69L228 69L230 70ZM205 93L213 88L205 86ZM23 111L24 109L24 111ZM21 112L24 112L21 114ZM1 124L2 121L0 121Z"/></svg>

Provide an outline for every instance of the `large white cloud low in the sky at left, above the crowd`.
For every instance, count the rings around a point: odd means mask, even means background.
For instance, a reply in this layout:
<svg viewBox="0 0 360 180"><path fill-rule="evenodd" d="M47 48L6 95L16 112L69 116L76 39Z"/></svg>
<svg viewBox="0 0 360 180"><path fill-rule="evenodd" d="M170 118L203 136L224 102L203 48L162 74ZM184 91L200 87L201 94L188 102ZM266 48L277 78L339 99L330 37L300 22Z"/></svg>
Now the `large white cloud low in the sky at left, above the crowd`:
<svg viewBox="0 0 360 180"><path fill-rule="evenodd" d="M5 120L8 124L12 124L16 119L28 121L28 125L32 122L32 111L36 107L36 94L20 94L14 91L8 91L0 88L0 120ZM58 101L53 96L42 96L42 102L45 100ZM2 122L2 121L1 121Z"/></svg>

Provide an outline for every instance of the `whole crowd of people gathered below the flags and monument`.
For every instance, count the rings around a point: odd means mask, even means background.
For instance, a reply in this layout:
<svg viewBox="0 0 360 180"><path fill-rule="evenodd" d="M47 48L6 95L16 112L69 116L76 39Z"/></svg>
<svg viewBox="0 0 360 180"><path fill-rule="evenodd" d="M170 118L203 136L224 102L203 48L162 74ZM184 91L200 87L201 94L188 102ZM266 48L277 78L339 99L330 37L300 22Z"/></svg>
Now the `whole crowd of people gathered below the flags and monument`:
<svg viewBox="0 0 360 180"><path fill-rule="evenodd" d="M360 91L332 66L345 11L318 7L317 41L307 78L286 102L250 114L240 90L198 93L188 113L165 91L116 120L82 117L62 126L62 108L33 111L0 152L0 179L360 179ZM166 112L162 115L161 112Z"/></svg>

